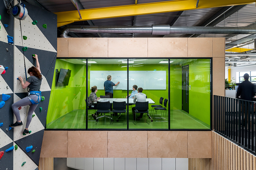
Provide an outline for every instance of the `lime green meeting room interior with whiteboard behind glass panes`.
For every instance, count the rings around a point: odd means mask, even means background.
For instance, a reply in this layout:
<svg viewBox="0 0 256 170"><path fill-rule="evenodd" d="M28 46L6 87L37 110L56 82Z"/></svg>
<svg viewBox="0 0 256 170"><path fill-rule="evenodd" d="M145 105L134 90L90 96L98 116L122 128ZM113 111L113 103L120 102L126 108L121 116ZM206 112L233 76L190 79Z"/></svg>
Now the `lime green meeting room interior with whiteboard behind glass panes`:
<svg viewBox="0 0 256 170"><path fill-rule="evenodd" d="M86 59L57 59L55 70L69 69L71 73L66 86L56 86L56 72L54 74L46 128L86 129L87 125L88 129L127 129L128 125L129 129L168 129L170 122L170 129L210 129L211 59L170 59L170 69L168 59L129 59L128 65L129 78L127 59L88 59L88 71ZM105 95L103 83L107 80L107 75L112 76L111 81L114 83L120 81L113 88L114 98L125 98L127 90L131 94L132 86L136 84L144 89L142 93L155 104L159 105L160 97L167 99L166 109L170 117L164 116L162 111L159 116L161 119L153 116L154 121L147 124L144 114L134 125L131 108L135 105L131 105L127 108L128 124L125 114L121 115L118 122L117 116L113 116L113 124L106 118L101 118L95 124L91 116L95 113L94 110L88 110L86 122L85 99L89 97L92 86L97 86L98 97ZM150 115L154 113L154 109L151 113L151 105L149 104ZM161 114L161 111L157 114Z"/></svg>

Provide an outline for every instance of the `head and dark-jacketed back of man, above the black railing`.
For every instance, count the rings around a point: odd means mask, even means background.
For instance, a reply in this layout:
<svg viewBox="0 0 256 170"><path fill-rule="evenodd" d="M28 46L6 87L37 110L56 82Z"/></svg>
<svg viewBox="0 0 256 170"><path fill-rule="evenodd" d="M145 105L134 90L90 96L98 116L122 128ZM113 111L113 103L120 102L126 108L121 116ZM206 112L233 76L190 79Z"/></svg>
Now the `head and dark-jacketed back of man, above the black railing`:
<svg viewBox="0 0 256 170"><path fill-rule="evenodd" d="M248 81L249 75L246 74L244 74L244 81L238 86L236 98L241 96L242 100L253 101L254 85Z"/></svg>

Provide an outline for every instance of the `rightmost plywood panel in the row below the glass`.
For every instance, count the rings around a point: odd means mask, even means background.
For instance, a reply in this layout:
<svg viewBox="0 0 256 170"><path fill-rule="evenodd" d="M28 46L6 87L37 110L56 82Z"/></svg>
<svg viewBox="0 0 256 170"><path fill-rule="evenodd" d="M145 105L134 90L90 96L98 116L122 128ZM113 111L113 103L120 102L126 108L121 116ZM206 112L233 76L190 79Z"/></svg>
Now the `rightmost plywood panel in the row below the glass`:
<svg viewBox="0 0 256 170"><path fill-rule="evenodd" d="M187 157L212 158L212 132L187 132Z"/></svg>

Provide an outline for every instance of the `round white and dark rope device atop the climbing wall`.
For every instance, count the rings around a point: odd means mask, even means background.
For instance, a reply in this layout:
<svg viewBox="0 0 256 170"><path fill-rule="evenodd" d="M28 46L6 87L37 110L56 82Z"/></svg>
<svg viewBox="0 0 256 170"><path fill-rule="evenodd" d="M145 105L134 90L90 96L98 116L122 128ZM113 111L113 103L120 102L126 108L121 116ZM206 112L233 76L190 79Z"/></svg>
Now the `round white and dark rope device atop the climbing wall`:
<svg viewBox="0 0 256 170"><path fill-rule="evenodd" d="M12 2L13 0L4 0L7 13L10 14L10 7L12 7L13 17L24 20L28 16L28 10L25 8L25 4L21 3L21 0L18 0L18 4L12 6Z"/></svg>

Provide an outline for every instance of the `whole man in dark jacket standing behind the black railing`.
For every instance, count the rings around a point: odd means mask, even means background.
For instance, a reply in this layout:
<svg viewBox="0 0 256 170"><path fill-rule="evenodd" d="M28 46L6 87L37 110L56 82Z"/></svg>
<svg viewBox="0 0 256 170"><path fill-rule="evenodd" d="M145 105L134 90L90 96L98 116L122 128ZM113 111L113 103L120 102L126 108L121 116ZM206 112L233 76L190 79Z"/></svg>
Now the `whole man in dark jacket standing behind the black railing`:
<svg viewBox="0 0 256 170"><path fill-rule="evenodd" d="M243 75L243 78L244 78L244 81L238 86L238 89L237 89L237 99L239 98L239 96L241 95L241 99L243 100L248 100L248 101L253 101L253 96L255 94L254 92L254 85L253 83L249 82L249 74L245 73ZM245 106L245 103L242 102L242 106ZM251 106L248 106L248 107L251 107ZM255 106L253 107L255 108ZM251 121L251 114L248 114L248 108L244 108L244 117L243 117L243 122L245 122L245 110L247 110L247 123L249 124L248 122L248 119L250 117L250 121ZM242 111L242 108L241 108L241 111ZM245 126L245 123L244 123L244 126ZM251 126L251 123L250 123L250 126Z"/></svg>

